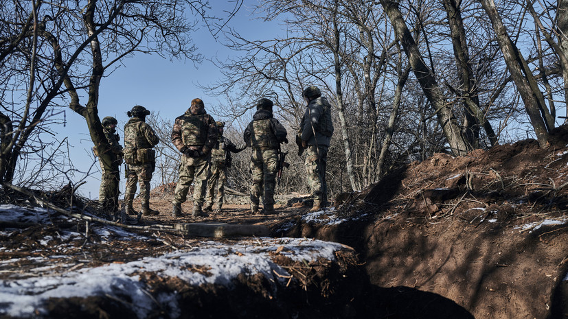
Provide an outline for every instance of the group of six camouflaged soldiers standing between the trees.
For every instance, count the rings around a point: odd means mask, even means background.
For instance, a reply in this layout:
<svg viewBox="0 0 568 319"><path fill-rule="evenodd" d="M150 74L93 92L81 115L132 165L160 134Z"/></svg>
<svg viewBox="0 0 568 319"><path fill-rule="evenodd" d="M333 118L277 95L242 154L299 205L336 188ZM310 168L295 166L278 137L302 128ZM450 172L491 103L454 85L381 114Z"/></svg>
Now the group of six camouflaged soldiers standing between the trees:
<svg viewBox="0 0 568 319"><path fill-rule="evenodd" d="M305 165L313 207L319 211L327 203L326 163L330 138L333 134L331 106L316 86L308 86L302 96L306 111L296 134L298 154L305 154ZM172 201L172 217L183 217L181 204L187 200L193 182L193 217L207 216L214 201L216 212L223 207L227 169L231 166L231 152L237 153L251 147L252 185L250 190L251 214L274 213L274 189L279 169L280 145L288 143L286 128L273 116L273 102L265 97L256 102L256 113L243 134L245 144L235 145L223 137L225 123L215 121L205 111L201 99L193 99L190 108L174 121L171 140L181 153L179 181ZM158 215L150 209L150 180L156 165L154 147L159 138L146 123L150 111L144 106L134 106L126 113L130 119L124 126L124 147L116 133L117 120L104 117L101 123L107 141L111 145L109 156L112 165L103 165L99 201L105 211L121 222L126 215ZM95 150L95 149L94 149ZM98 154L95 154L98 155ZM126 190L124 211L119 211L118 195L120 165L126 163ZM133 200L140 185L141 212L133 208ZM214 194L217 193L217 196ZM262 197L262 211L259 211Z"/></svg>

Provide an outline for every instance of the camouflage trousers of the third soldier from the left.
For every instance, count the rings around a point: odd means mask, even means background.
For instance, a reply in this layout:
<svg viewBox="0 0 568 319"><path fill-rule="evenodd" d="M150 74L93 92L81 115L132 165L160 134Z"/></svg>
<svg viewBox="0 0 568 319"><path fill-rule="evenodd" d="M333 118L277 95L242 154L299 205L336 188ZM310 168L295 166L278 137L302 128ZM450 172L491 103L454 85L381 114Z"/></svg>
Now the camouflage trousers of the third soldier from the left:
<svg viewBox="0 0 568 319"><path fill-rule="evenodd" d="M179 165L179 181L174 191L173 204L181 204L188 199L188 191L193 182L193 204L194 207L203 206L205 198L205 187L207 186L207 175L209 174L209 157L191 158L181 156Z"/></svg>

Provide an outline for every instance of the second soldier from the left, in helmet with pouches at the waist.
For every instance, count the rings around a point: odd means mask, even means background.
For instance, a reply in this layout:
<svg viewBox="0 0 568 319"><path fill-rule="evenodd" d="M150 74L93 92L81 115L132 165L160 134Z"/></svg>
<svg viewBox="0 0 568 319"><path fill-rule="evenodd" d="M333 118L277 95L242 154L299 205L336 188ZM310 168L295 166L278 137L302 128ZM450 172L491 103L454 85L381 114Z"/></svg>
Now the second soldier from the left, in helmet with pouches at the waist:
<svg viewBox="0 0 568 319"><path fill-rule="evenodd" d="M124 126L124 161L128 168L126 174L126 191L124 194L125 211L128 215L137 215L132 202L136 193L136 182L140 182L142 215L158 215L150 209L150 180L156 168L155 147L159 143L156 132L146 123L146 115L150 111L144 106L134 106L126 113L131 117Z"/></svg>

